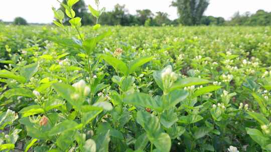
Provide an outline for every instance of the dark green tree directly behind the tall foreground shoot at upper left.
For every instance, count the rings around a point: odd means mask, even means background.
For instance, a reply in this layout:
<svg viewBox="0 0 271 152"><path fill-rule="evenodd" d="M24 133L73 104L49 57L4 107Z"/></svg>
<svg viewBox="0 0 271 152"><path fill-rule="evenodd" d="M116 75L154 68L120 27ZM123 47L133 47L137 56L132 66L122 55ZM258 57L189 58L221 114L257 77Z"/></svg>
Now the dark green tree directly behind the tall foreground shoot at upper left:
<svg viewBox="0 0 271 152"><path fill-rule="evenodd" d="M63 0L62 2L67 3L67 0ZM88 13L88 8L84 0L79 0L73 5L72 8L75 11L76 16L82 18L82 25L89 25L95 23L95 19L90 13ZM60 5L60 9L65 12L65 8L62 5ZM69 19L70 18L65 14L65 17L63 19L64 24L69 24Z"/></svg>

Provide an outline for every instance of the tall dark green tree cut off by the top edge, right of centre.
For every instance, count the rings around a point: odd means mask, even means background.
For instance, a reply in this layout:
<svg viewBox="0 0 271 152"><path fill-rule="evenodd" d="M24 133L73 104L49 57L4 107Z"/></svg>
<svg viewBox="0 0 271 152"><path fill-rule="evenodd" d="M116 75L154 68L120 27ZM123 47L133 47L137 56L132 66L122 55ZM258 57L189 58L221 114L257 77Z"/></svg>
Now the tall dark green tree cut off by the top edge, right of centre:
<svg viewBox="0 0 271 152"><path fill-rule="evenodd" d="M209 0L173 0L177 7L180 22L184 25L200 24L201 17L209 5Z"/></svg>

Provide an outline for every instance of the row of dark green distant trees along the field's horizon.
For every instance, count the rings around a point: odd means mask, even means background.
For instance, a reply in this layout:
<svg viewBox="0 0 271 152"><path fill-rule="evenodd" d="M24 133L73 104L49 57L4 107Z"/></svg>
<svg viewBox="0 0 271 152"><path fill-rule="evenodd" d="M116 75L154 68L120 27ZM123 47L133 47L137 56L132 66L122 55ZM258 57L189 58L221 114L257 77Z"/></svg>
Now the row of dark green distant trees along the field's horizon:
<svg viewBox="0 0 271 152"><path fill-rule="evenodd" d="M64 3L67 0L63 0ZM137 10L136 14L130 14L125 5L116 4L111 11L105 11L99 18L101 24L106 25L145 25L145 26L163 26L163 25L271 25L271 12L258 10L251 14L246 12L240 14L236 12L230 20L223 17L205 16L204 12L208 8L209 0L173 0L172 7L178 10L179 18L171 20L166 12L152 12L150 9ZM63 6L59 9L65 10ZM82 18L83 25L95 24L96 19L90 15L84 0L77 2L73 9L75 13ZM65 16L64 24L69 24L68 16ZM26 20L18 17L15 24L27 24Z"/></svg>

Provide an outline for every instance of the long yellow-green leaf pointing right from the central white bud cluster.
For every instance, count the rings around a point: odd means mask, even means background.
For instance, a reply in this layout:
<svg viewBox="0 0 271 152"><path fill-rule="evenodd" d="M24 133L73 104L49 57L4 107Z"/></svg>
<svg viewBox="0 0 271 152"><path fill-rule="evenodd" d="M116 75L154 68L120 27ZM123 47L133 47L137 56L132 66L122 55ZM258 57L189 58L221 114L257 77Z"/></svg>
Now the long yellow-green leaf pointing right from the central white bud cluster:
<svg viewBox="0 0 271 152"><path fill-rule="evenodd" d="M207 84L211 81L207 79L197 78L197 77L187 77L183 79L177 80L170 88L170 90L183 88L185 86L191 86L191 85L201 85L201 84Z"/></svg>

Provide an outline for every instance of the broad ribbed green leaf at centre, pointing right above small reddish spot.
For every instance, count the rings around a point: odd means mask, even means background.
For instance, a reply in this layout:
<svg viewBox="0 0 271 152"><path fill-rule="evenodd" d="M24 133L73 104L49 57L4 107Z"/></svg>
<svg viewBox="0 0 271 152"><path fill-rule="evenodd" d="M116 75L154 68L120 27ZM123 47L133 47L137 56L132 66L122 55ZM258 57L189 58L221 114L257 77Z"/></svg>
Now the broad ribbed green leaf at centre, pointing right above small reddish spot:
<svg viewBox="0 0 271 152"><path fill-rule="evenodd" d="M134 92L132 94L126 95L123 99L124 103L130 103L133 105L148 107L151 109L162 110L161 105L149 94L142 92Z"/></svg>

